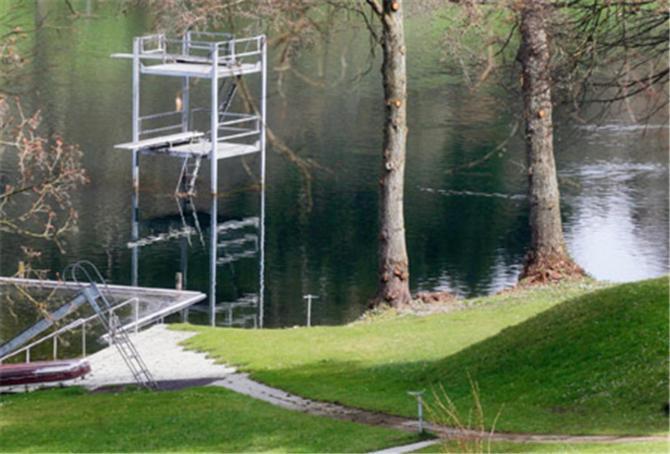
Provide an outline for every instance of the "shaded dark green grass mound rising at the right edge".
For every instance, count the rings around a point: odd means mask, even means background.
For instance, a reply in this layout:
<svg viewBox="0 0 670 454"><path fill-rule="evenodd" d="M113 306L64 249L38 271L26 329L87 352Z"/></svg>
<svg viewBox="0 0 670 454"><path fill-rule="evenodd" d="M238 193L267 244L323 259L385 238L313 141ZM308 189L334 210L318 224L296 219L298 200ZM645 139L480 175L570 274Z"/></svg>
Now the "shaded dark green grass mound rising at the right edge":
<svg viewBox="0 0 670 454"><path fill-rule="evenodd" d="M572 299L437 362L427 376L466 407L467 374L485 411L504 405L502 430L667 430L668 280Z"/></svg>

